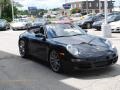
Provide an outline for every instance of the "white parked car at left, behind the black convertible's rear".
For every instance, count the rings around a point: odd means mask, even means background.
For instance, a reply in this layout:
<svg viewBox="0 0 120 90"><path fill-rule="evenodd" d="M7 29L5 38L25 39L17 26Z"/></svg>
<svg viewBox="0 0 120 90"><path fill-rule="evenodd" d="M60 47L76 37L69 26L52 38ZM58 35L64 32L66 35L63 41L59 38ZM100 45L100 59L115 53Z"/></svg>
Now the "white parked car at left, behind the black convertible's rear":
<svg viewBox="0 0 120 90"><path fill-rule="evenodd" d="M23 30L31 26L26 19L14 19L10 24L12 30Z"/></svg>

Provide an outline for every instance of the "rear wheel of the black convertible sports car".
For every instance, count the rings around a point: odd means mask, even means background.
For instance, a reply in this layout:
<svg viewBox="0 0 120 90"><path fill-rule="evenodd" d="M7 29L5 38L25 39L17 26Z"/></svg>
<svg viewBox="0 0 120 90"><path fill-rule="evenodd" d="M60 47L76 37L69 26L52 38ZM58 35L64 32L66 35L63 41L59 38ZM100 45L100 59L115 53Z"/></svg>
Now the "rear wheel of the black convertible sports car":
<svg viewBox="0 0 120 90"><path fill-rule="evenodd" d="M19 52L22 58L28 58L27 42L25 40L19 41Z"/></svg>

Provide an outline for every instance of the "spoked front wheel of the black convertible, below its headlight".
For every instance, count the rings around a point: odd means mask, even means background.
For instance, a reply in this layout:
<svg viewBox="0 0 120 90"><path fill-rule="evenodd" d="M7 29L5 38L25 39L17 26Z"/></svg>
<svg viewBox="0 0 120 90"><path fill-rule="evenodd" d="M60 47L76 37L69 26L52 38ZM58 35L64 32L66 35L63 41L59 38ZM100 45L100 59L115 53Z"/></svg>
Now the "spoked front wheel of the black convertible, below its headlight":
<svg viewBox="0 0 120 90"><path fill-rule="evenodd" d="M59 58L59 55L58 55L57 51L52 50L50 52L50 54L49 54L49 64L50 64L50 67L51 67L52 71L54 71L56 73L63 72L62 62Z"/></svg>

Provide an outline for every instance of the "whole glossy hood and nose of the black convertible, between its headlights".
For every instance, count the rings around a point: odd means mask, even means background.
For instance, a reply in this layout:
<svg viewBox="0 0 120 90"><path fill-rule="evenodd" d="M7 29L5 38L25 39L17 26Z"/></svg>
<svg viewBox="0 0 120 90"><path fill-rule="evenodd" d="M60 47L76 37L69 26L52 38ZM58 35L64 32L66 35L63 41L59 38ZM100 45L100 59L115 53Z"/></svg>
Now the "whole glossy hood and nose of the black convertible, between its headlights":
<svg viewBox="0 0 120 90"><path fill-rule="evenodd" d="M80 57L83 58L104 56L110 51L105 43L106 39L91 35L60 37L54 38L53 41L64 46L68 44L73 45L80 51Z"/></svg>

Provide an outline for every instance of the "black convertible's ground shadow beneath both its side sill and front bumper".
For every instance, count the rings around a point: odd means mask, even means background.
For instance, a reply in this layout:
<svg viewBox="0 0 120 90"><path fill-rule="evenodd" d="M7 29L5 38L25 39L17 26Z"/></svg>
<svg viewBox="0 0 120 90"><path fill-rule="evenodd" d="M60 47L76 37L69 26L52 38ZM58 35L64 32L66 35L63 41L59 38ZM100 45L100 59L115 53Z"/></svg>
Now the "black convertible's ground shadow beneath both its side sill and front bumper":
<svg viewBox="0 0 120 90"><path fill-rule="evenodd" d="M39 63L47 68L50 68L49 63L42 61L36 57L31 56L29 60ZM120 65L114 64L104 69L97 70L71 70L68 72L60 73L61 75L74 78L84 78L84 79L100 79L109 78L120 75Z"/></svg>

